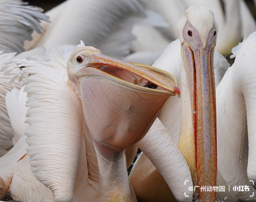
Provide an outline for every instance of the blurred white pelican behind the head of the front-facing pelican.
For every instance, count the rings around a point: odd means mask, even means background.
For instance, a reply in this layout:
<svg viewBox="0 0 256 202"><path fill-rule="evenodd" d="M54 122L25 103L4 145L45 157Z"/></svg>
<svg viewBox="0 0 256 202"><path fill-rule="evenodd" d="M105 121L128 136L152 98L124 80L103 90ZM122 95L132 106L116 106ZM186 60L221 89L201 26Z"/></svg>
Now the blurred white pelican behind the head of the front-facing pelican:
<svg viewBox="0 0 256 202"><path fill-rule="evenodd" d="M224 56L230 55L238 42L256 31L255 19L243 0L151 0L148 8L163 15L169 26L156 29L135 25L132 33L137 40L133 42L133 50L159 50L177 39L178 33L173 27L193 3L201 3L213 11L219 27L216 50ZM161 48L159 44L165 45Z"/></svg>

